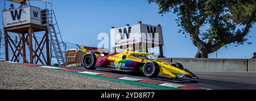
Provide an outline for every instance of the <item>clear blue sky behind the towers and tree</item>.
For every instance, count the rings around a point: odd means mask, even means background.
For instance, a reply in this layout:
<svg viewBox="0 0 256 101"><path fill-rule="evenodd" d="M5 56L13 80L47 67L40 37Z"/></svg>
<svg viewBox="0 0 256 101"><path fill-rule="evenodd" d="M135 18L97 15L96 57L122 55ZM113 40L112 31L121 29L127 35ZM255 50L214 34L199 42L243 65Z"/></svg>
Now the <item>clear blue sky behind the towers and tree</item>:
<svg viewBox="0 0 256 101"><path fill-rule="evenodd" d="M49 1L49 0L48 0ZM6 2L9 7L10 2ZM44 9L45 4L31 2L33 6ZM19 4L14 4L15 7ZM4 8L4 0L1 0L0 8ZM158 5L149 4L147 0L53 0L57 22L64 41L97 47L101 40L97 40L98 33L110 34L111 27L123 27L126 24L158 25L163 28L164 46L163 52L166 57L193 58L197 48L192 44L189 37L178 33L175 19L176 14L169 12L161 16L158 14ZM2 13L0 18L2 19ZM2 23L0 24L2 27ZM256 26L250 30L248 36L250 45L234 44L228 48L222 47L217 51L218 58L251 58L256 52ZM216 58L216 52L209 54L209 58Z"/></svg>

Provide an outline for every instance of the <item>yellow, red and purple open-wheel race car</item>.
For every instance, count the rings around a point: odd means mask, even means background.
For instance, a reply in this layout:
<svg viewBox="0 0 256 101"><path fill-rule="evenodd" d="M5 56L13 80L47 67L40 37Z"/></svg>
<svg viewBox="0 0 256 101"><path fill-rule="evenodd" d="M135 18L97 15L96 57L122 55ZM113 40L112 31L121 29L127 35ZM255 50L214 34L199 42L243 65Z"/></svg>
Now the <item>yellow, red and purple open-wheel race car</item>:
<svg viewBox="0 0 256 101"><path fill-rule="evenodd" d="M191 71L183 68L178 62L167 64L156 60L154 56L145 52L134 52L133 48L127 48L124 52L113 53L106 56L97 52L85 52L82 58L82 66L89 70L131 70L142 71L145 77L155 78L157 76L170 78L195 78Z"/></svg>

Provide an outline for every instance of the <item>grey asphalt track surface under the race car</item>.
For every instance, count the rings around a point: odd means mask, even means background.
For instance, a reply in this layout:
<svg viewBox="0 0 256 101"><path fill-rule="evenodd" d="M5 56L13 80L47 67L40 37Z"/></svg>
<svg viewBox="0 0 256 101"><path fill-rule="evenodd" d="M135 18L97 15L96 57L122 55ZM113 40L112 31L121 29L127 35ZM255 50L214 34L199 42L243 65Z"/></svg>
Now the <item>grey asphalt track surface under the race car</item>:
<svg viewBox="0 0 256 101"><path fill-rule="evenodd" d="M172 79L165 77L147 78L143 77L142 73L127 73L122 71L112 71L104 69L87 70L84 68L68 68L84 71L93 71L97 73L113 74L118 76L133 77L147 79L150 81L174 83L186 86L204 87L212 90L256 90L256 72L193 72L200 79Z"/></svg>

